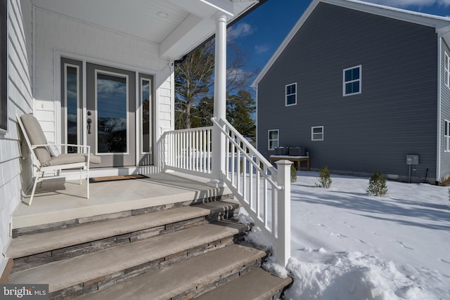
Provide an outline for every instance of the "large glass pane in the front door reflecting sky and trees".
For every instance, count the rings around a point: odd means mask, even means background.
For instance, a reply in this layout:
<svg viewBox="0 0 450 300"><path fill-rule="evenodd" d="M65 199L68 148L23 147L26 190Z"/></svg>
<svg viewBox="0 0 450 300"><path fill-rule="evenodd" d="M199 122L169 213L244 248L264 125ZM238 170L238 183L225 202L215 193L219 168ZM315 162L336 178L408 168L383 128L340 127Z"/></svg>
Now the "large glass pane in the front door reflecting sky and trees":
<svg viewBox="0 0 450 300"><path fill-rule="evenodd" d="M127 152L127 78L97 73L97 150Z"/></svg>

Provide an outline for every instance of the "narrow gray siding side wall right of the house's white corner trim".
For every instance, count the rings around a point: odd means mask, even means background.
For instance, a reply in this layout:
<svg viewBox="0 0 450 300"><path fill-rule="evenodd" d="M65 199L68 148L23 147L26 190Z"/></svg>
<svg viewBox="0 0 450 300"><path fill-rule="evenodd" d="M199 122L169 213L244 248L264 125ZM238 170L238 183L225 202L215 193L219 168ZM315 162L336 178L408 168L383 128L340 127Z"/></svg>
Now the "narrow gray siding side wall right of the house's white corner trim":
<svg viewBox="0 0 450 300"><path fill-rule="evenodd" d="M450 152L444 152L444 126L445 120L450 121L450 88L446 86L444 83L444 58L445 53L450 56L450 48L449 45L442 41L442 51L441 51L441 139L440 139L440 148L441 148L441 177L445 177L450 174Z"/></svg>

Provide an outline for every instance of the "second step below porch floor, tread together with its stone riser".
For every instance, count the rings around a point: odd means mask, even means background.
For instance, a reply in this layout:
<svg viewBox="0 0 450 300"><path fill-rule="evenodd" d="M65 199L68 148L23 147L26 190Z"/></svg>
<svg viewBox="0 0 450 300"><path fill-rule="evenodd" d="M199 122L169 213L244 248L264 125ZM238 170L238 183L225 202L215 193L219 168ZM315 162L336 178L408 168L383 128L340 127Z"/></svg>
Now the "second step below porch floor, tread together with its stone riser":
<svg viewBox="0 0 450 300"><path fill-rule="evenodd" d="M8 283L49 284L52 299L77 296L150 270L163 268L164 273L170 263L233 244L236 237L248 229L248 226L232 221L206 223L15 272L10 275ZM264 252L258 253L262 255ZM233 263L233 259L226 260L226 264Z"/></svg>

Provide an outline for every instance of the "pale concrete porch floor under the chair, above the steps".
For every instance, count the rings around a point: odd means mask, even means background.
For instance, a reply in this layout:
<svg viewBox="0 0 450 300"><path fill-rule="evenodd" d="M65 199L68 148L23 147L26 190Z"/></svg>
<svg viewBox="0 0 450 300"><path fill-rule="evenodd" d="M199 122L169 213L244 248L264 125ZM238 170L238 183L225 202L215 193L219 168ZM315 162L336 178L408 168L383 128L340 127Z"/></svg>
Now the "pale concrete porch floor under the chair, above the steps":
<svg viewBox="0 0 450 300"><path fill-rule="evenodd" d="M15 209L12 229L231 194L228 188L207 185L208 178L180 173L148 177L90 183L89 199L85 198L85 180L82 185L79 181L43 181L32 205L21 203Z"/></svg>

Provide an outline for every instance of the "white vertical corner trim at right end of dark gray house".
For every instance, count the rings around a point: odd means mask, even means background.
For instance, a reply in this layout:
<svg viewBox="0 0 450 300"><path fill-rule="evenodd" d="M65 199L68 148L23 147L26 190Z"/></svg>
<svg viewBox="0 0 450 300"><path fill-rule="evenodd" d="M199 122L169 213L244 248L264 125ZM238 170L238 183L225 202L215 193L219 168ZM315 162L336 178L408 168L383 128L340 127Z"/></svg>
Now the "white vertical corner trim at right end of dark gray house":
<svg viewBox="0 0 450 300"><path fill-rule="evenodd" d="M442 121L442 39L450 34L450 29L437 34L437 147L436 147L436 184L441 180L441 121Z"/></svg>

